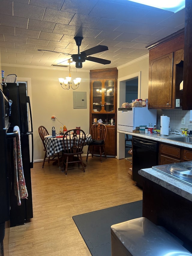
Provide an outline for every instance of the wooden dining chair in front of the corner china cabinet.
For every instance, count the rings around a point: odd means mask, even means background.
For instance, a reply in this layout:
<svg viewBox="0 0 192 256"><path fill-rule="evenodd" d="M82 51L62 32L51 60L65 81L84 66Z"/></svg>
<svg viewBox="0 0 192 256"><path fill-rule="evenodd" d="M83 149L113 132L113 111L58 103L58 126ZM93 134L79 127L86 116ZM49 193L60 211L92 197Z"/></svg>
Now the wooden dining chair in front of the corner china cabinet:
<svg viewBox="0 0 192 256"><path fill-rule="evenodd" d="M102 163L102 155L105 155L105 158L107 158L107 155L105 153L105 139L107 136L107 126L104 124L96 123L93 124L90 128L90 134L92 137L92 142L88 144L88 150L87 150L87 158L88 154L91 154L93 157L94 153L100 154L100 159Z"/></svg>

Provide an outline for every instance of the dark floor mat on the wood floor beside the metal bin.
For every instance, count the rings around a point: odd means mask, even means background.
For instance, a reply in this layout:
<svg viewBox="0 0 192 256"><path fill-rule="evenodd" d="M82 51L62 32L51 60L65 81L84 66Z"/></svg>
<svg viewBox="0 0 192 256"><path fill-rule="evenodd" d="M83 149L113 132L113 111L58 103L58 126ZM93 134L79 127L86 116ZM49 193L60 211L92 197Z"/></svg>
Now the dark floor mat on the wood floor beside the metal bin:
<svg viewBox="0 0 192 256"><path fill-rule="evenodd" d="M142 217L142 200L73 216L89 251L111 255L111 225Z"/></svg>

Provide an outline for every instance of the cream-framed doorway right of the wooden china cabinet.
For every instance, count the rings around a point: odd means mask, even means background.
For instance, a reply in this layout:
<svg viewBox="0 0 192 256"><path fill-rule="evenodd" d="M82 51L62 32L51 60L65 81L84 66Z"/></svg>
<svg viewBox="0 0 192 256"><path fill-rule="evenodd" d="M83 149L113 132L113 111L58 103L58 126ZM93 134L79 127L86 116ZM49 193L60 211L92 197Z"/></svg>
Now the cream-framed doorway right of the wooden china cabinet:
<svg viewBox="0 0 192 256"><path fill-rule="evenodd" d="M141 71L131 74L126 77L118 79L118 91L117 91L117 112L124 102L132 102L137 98L140 98L141 87ZM117 114L118 124L118 114ZM128 136L131 138L131 135ZM128 156L128 150L126 148L126 134L123 132L117 133L117 159L125 158ZM130 142L128 143L130 144ZM130 145L129 145L130 146ZM127 150L128 149L128 150Z"/></svg>

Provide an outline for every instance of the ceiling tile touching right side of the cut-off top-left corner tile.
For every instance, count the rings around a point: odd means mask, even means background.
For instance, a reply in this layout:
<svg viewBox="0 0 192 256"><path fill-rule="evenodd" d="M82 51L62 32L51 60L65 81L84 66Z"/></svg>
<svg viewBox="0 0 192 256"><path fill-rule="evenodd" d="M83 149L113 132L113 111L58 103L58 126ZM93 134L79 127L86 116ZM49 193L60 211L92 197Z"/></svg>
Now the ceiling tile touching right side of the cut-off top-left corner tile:
<svg viewBox="0 0 192 256"><path fill-rule="evenodd" d="M29 18L34 20L42 20L45 8L35 5L25 5L22 3L14 3L13 14L16 17Z"/></svg>

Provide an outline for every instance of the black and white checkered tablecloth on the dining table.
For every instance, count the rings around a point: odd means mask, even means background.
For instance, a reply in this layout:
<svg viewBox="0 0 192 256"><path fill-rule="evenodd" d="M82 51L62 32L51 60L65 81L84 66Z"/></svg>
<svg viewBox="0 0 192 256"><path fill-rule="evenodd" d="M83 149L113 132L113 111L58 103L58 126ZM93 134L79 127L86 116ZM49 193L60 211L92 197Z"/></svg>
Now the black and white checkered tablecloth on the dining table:
<svg viewBox="0 0 192 256"><path fill-rule="evenodd" d="M63 138L52 138L51 135L45 136L45 146L46 146L46 152L47 156L54 155L56 153L59 153L61 150L64 150L63 148ZM86 133L85 138L85 145L90 143L92 141L91 134Z"/></svg>

